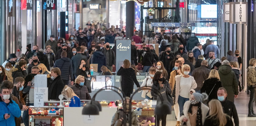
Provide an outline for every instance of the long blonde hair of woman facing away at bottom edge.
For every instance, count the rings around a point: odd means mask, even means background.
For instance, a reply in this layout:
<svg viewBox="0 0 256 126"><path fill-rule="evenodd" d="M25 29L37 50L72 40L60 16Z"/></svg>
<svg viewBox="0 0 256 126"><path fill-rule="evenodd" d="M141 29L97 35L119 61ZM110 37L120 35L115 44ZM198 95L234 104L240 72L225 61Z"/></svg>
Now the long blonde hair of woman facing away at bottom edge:
<svg viewBox="0 0 256 126"><path fill-rule="evenodd" d="M222 105L219 100L213 99L209 102L209 118L212 120L217 120L215 123L219 126L225 126L227 123L226 114L224 114ZM215 124L215 125L217 125Z"/></svg>

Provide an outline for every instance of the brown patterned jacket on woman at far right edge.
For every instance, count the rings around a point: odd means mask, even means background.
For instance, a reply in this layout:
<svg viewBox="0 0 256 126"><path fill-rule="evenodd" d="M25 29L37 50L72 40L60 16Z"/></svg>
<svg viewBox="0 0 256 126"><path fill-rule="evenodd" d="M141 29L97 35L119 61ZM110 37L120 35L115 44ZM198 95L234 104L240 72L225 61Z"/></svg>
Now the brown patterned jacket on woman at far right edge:
<svg viewBox="0 0 256 126"><path fill-rule="evenodd" d="M256 68L249 66L247 68L247 86L256 85Z"/></svg>

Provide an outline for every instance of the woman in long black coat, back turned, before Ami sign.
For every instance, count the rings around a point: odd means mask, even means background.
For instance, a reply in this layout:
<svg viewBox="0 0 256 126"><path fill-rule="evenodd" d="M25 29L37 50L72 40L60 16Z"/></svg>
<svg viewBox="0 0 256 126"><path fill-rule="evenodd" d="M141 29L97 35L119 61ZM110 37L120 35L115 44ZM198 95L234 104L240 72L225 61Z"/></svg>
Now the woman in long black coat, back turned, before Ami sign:
<svg viewBox="0 0 256 126"><path fill-rule="evenodd" d="M136 74L133 68L131 68L131 63L129 60L126 59L123 61L123 65L118 70L117 75L122 77L121 87L122 87L123 97L131 96L131 94L133 93L134 83L136 84L137 88L140 87L140 84L136 78Z"/></svg>

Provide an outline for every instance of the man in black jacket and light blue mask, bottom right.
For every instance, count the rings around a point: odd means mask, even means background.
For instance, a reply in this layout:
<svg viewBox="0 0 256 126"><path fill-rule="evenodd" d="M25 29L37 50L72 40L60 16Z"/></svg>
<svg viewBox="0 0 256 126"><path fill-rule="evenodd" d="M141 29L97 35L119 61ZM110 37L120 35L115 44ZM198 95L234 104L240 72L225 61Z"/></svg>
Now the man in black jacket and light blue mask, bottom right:
<svg viewBox="0 0 256 126"><path fill-rule="evenodd" d="M231 118L234 118L235 126L239 126L239 118L236 111L236 106L232 101L227 100L227 91L225 88L219 88L218 92L218 100L221 102L223 112L229 115Z"/></svg>

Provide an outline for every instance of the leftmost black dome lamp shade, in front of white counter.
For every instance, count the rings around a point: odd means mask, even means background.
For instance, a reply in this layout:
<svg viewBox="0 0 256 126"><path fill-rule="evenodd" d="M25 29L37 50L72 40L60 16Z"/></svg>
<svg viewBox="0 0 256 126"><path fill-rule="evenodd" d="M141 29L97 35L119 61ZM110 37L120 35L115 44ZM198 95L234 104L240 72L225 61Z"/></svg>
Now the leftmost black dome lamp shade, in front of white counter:
<svg viewBox="0 0 256 126"><path fill-rule="evenodd" d="M99 108L95 104L87 104L84 106L82 115L99 115Z"/></svg>

